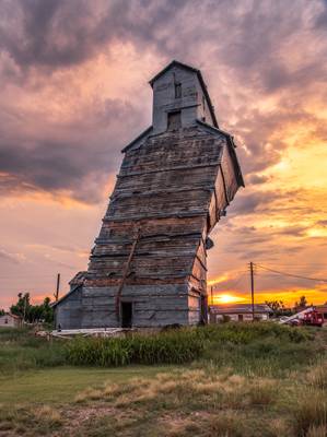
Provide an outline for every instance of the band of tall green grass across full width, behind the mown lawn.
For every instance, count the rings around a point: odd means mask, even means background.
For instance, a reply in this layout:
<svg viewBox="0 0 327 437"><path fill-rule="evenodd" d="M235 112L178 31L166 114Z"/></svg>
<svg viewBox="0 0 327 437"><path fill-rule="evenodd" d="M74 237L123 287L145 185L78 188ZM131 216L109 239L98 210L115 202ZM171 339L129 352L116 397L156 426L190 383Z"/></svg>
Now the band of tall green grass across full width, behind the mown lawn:
<svg viewBox="0 0 327 437"><path fill-rule="evenodd" d="M209 361L214 366L232 367L242 374L268 376L317 361L322 351L313 339L313 330L276 323L209 324L151 335L78 338L68 342L47 342L28 330L2 329L0 374L63 364L104 367L198 361L201 366L203 361ZM316 379L323 380L323 376L317 370Z"/></svg>

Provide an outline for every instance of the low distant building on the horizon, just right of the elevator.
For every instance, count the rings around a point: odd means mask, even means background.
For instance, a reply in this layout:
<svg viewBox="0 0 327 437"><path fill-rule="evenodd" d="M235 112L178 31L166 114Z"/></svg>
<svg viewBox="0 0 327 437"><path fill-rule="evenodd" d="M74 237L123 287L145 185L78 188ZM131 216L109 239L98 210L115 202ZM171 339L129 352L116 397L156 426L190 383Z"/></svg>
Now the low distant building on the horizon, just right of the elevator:
<svg viewBox="0 0 327 437"><path fill-rule="evenodd" d="M209 308L210 322L217 323L223 320L250 321L253 320L250 304L211 305ZM255 319L268 320L272 310L265 304L255 305Z"/></svg>

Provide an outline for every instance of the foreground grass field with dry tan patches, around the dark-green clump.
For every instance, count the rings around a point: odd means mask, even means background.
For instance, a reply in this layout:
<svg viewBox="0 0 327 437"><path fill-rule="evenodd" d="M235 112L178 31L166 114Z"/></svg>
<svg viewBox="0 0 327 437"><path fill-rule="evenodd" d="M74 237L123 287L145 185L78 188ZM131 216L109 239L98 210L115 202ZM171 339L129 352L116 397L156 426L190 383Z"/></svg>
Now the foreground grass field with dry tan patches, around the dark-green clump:
<svg viewBox="0 0 327 437"><path fill-rule="evenodd" d="M97 367L68 365L66 343L1 330L0 436L326 437L327 330L226 323L191 335L203 342L192 362Z"/></svg>

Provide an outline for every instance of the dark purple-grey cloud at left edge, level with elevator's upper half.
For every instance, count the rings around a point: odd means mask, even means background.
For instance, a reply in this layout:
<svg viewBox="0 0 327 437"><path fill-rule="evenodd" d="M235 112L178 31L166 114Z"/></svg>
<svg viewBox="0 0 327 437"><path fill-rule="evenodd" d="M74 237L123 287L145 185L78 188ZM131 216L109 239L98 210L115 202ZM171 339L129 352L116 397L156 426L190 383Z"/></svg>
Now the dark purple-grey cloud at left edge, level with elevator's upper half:
<svg viewBox="0 0 327 437"><path fill-rule="evenodd" d="M20 153L16 153L13 145L2 146L0 172L8 176L1 178L0 193L8 196L17 194L21 190L69 190L75 199L96 202L102 194L101 190L90 192L80 184L82 180L86 182L92 174L98 178L100 184L104 184L103 174L113 170L115 164L104 152L90 156L87 147L79 146L77 151L77 146L68 143L45 141L33 150L21 149Z"/></svg>

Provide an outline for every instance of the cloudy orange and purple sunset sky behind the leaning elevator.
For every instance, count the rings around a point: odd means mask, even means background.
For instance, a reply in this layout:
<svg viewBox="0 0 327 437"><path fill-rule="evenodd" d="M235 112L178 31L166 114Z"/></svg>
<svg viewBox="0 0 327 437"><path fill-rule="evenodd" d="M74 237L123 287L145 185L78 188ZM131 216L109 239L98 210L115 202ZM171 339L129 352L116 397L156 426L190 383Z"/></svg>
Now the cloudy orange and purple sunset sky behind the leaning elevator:
<svg viewBox="0 0 327 437"><path fill-rule="evenodd" d="M245 189L214 228L220 295L327 300L327 1L0 0L0 308L87 267L149 80L201 70Z"/></svg>

